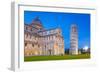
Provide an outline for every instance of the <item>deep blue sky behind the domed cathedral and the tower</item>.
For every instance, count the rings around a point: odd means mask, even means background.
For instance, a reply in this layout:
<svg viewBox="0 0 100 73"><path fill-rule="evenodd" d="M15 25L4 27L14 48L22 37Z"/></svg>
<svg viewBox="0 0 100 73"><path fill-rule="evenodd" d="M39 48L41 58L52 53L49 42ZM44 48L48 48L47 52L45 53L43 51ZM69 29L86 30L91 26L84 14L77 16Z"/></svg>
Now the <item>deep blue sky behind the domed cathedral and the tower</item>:
<svg viewBox="0 0 100 73"><path fill-rule="evenodd" d="M45 29L61 28L65 49L70 48L70 26L72 24L78 27L79 48L90 47L90 14L24 11L24 23L30 24L37 16Z"/></svg>

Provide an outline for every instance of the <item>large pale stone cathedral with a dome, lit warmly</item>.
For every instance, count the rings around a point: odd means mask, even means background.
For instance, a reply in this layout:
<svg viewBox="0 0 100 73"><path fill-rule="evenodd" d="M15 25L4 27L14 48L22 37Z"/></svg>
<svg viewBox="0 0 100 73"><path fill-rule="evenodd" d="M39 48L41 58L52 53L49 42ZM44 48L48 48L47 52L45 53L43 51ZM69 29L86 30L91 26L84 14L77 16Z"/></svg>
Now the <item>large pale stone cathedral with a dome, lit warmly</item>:
<svg viewBox="0 0 100 73"><path fill-rule="evenodd" d="M39 17L24 24L24 56L64 55L61 29L45 29Z"/></svg>

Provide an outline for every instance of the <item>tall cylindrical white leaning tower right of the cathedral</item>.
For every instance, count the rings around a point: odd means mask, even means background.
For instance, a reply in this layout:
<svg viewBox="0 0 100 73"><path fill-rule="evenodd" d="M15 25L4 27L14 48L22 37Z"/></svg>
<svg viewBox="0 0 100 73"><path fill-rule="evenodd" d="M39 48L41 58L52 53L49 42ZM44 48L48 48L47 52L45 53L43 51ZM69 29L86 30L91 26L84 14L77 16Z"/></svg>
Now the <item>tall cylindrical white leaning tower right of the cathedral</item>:
<svg viewBox="0 0 100 73"><path fill-rule="evenodd" d="M77 25L72 24L70 30L70 54L78 54L78 28Z"/></svg>

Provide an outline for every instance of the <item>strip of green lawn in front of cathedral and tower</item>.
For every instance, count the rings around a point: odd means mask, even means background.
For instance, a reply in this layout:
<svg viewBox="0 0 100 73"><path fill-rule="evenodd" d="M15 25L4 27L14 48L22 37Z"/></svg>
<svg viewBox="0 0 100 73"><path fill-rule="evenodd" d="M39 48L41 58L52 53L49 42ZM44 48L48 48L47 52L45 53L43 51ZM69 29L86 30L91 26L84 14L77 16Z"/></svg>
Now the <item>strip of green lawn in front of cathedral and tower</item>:
<svg viewBox="0 0 100 73"><path fill-rule="evenodd" d="M47 60L71 60L71 59L88 59L90 54L80 55L63 55L63 56L29 56L24 57L24 61L47 61Z"/></svg>

